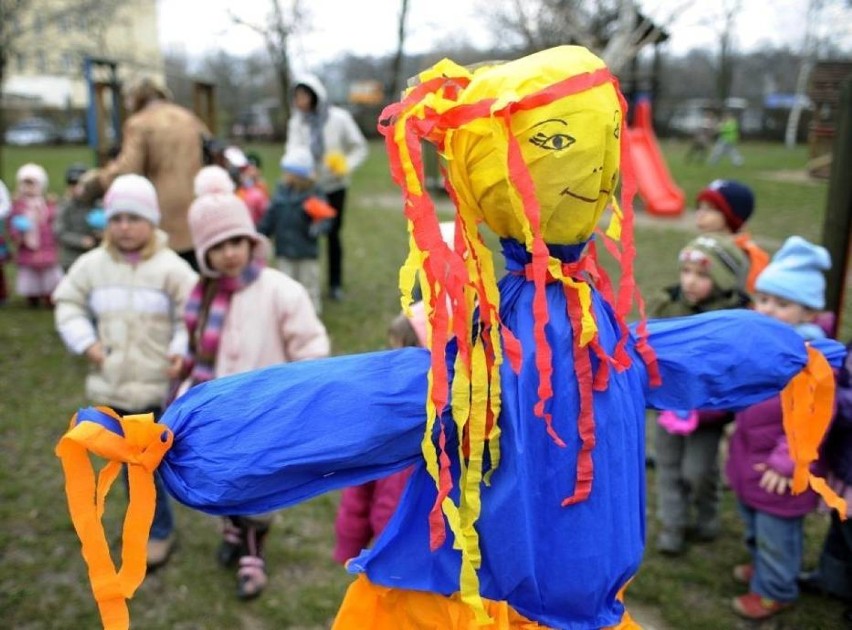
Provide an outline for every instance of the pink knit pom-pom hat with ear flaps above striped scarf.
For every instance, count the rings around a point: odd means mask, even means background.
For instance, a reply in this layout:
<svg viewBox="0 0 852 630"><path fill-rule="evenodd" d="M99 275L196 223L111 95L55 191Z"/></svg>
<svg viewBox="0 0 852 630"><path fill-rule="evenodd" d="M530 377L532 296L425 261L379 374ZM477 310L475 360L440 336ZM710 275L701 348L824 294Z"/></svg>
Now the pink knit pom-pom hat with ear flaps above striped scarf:
<svg viewBox="0 0 852 630"><path fill-rule="evenodd" d="M269 256L269 241L258 234L248 207L233 193L202 195L193 201L189 206L189 231L195 244L198 268L211 278L220 274L210 268L207 252L229 238L244 236L252 241L256 259L266 260Z"/></svg>

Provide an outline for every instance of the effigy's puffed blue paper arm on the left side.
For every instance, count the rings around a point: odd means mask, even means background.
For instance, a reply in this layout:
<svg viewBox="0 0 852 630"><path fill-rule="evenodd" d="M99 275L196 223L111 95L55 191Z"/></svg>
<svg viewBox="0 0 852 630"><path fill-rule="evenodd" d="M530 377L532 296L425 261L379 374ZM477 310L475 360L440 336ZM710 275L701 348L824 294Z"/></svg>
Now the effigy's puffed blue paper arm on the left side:
<svg viewBox="0 0 852 630"><path fill-rule="evenodd" d="M193 387L161 419L166 487L210 514L258 514L402 470L420 459L428 369L426 350L404 348Z"/></svg>

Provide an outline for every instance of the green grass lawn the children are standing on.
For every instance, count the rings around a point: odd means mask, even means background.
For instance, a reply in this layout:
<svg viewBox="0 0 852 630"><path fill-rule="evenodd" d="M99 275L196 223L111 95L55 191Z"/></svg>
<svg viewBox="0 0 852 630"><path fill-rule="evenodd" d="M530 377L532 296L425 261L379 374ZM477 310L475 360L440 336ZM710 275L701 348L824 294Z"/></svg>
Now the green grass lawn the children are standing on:
<svg viewBox="0 0 852 630"><path fill-rule="evenodd" d="M279 146L252 147L263 156L268 181L274 181ZM687 198L717 177L737 177L752 185L757 210L751 231L774 251L790 234L819 240L827 184L802 176L806 149L746 144L746 164L738 169L685 164L686 145L666 143L673 175ZM43 164L51 188L60 192L64 168L90 162L83 148L3 148L3 180L12 182L26 161ZM449 212L445 203L442 212ZM447 218L449 218L447 214ZM375 143L369 161L355 176L345 219L346 299L329 302L324 320L337 354L378 349L399 309L397 270L406 251L399 193L388 175L382 147ZM691 216L648 220L637 226L637 279L646 293L676 281L677 252L693 235ZM7 266L7 272L11 271ZM852 337L847 305L841 338ZM84 361L69 356L53 329L52 314L30 310L13 298L0 310L0 611L3 626L20 629L98 627L79 543L68 518L62 472L53 448L71 414L86 404ZM653 475L653 472L650 473ZM649 485L653 479L649 479ZM114 541L120 531L124 498L121 484L106 514ZM130 604L133 627L179 630L244 628L327 628L350 581L331 559L337 494L280 513L268 546L271 583L257 601L234 596L234 576L214 560L218 523L187 508L177 509L180 548L173 561L152 574ZM648 540L656 534L653 493L648 497ZM741 526L730 492L724 496L721 538L691 547L682 558L666 559L649 545L645 562L628 592L631 600L653 607L670 628L749 628L730 612L729 600L741 592L731 568L746 559ZM826 520L807 524L807 559L813 565ZM566 570L569 570L566 568ZM839 627L842 605L803 596L799 605L769 624L773 628Z"/></svg>

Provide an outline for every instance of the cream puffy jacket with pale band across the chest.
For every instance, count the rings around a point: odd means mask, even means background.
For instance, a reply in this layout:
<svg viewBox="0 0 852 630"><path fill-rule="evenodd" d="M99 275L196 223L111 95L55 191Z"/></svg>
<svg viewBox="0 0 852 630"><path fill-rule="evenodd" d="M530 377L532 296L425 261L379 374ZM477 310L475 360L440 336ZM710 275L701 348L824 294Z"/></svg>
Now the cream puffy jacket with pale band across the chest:
<svg viewBox="0 0 852 630"><path fill-rule="evenodd" d="M183 310L197 275L157 231L154 253L131 264L109 246L83 254L53 293L56 329L83 354L100 341L105 359L86 378L95 404L142 410L163 403L168 357L183 356Z"/></svg>

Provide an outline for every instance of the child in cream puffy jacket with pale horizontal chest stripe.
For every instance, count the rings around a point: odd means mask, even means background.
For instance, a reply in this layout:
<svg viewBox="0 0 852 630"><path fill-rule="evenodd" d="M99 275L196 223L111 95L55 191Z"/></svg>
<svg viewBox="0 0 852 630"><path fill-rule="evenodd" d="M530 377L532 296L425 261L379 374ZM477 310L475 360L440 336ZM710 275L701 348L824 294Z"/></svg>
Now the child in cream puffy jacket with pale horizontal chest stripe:
<svg viewBox="0 0 852 630"><path fill-rule="evenodd" d="M159 417L169 381L181 371L187 334L183 309L197 275L157 229L160 209L150 181L115 179L104 197L104 241L80 256L53 292L56 329L91 364L86 396L119 413ZM174 524L159 476L148 542L148 568L168 561Z"/></svg>

